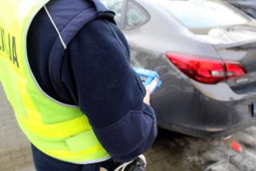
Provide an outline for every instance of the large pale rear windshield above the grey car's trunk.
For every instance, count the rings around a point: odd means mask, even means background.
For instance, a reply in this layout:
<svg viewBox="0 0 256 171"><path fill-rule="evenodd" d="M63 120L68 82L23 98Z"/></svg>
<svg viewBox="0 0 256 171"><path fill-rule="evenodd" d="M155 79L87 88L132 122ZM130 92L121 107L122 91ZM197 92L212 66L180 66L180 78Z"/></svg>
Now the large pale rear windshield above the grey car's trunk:
<svg viewBox="0 0 256 171"><path fill-rule="evenodd" d="M161 0L158 2L190 29L241 25L249 20L230 6L216 0Z"/></svg>

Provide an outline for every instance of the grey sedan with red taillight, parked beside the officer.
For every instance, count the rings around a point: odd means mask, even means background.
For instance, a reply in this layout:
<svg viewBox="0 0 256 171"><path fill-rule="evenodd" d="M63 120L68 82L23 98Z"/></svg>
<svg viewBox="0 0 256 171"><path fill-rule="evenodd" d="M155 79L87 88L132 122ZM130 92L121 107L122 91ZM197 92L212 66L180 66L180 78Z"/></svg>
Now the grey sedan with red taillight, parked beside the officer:
<svg viewBox="0 0 256 171"><path fill-rule="evenodd" d="M158 126L196 137L254 124L256 22L218 0L102 0L130 44L134 66L156 70Z"/></svg>

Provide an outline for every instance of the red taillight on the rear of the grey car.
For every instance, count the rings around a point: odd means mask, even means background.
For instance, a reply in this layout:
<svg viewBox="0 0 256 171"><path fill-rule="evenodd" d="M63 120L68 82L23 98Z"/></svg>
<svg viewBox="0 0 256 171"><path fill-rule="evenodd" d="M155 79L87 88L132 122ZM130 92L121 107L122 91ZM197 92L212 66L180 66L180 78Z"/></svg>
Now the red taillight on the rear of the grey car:
<svg viewBox="0 0 256 171"><path fill-rule="evenodd" d="M231 77L242 77L246 71L238 62L168 53L166 57L182 73L198 82L216 84Z"/></svg>

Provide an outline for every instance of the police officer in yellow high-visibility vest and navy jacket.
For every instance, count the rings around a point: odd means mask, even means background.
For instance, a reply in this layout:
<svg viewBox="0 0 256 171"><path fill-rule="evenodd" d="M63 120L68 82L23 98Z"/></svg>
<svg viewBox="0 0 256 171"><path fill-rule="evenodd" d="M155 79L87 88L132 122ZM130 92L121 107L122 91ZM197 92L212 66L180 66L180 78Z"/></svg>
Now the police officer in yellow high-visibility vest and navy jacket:
<svg viewBox="0 0 256 171"><path fill-rule="evenodd" d="M149 149L154 111L113 12L99 0L0 4L0 79L37 170L113 170Z"/></svg>

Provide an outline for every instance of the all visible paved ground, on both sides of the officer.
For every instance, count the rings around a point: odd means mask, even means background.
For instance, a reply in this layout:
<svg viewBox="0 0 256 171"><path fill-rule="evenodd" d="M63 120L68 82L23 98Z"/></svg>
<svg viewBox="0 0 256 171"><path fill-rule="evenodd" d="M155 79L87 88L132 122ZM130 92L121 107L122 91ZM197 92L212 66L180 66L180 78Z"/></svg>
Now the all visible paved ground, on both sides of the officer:
<svg viewBox="0 0 256 171"><path fill-rule="evenodd" d="M14 113L0 86L0 171L34 171L30 143L18 129ZM256 126L235 133L242 153L222 138L199 139L159 130L146 153L147 171L256 171Z"/></svg>

